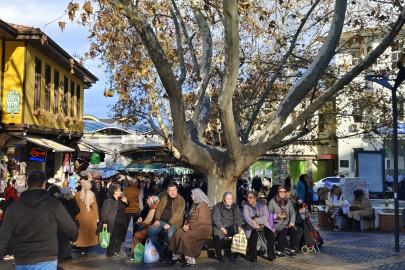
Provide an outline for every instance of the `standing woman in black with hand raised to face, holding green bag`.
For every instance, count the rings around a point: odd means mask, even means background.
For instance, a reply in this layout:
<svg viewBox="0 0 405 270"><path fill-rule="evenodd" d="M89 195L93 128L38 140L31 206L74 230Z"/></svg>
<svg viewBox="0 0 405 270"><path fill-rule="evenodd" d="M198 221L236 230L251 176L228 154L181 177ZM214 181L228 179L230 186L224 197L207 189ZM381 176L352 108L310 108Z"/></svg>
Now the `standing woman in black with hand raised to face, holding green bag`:
<svg viewBox="0 0 405 270"><path fill-rule="evenodd" d="M121 198L121 186L114 184L110 187L110 195L104 202L101 210L103 228L110 233L110 244L107 247L106 257L121 255L121 246L125 242L127 228L125 225L125 209L129 203L127 198Z"/></svg>

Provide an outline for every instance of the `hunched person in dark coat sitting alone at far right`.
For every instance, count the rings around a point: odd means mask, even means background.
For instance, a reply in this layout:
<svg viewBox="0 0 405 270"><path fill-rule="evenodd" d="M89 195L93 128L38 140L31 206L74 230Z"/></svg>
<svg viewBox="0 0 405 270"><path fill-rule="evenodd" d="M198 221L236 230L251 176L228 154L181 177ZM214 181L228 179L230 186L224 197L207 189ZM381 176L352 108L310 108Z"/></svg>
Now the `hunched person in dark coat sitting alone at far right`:
<svg viewBox="0 0 405 270"><path fill-rule="evenodd" d="M373 216L373 206L371 205L371 201L368 198L367 194L362 189L357 189L353 191L354 200L352 205L350 206L350 212L347 214L349 218L349 228L348 230L352 230L352 220L354 219L354 227L355 230L360 230L360 219L364 217L371 217Z"/></svg>

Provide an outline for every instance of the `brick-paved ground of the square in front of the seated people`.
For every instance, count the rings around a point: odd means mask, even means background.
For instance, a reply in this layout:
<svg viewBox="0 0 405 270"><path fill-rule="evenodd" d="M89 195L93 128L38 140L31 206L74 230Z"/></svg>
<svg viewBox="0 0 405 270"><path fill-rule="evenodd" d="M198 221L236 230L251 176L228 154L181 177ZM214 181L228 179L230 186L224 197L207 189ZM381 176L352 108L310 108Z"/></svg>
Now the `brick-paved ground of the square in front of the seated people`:
<svg viewBox="0 0 405 270"><path fill-rule="evenodd" d="M220 263L215 259L197 259L199 269L378 269L378 270L404 270L405 269L405 235L400 237L401 252L394 252L394 235L380 231L368 232L334 232L320 230L325 244L321 247L321 253L314 252L306 255L297 255L295 259L278 258L276 262L269 262L259 258L258 262L251 263L245 258L239 258L236 263L226 261ZM127 242L123 247L125 252L131 245L128 232ZM87 259L79 260L76 251L73 253L73 260L59 263L58 269L79 270L79 269L184 269L179 264L167 265L165 263L135 263L127 257L107 259L105 250L99 246L93 248ZM206 252L203 253L206 255ZM12 261L0 261L0 269L15 269Z"/></svg>

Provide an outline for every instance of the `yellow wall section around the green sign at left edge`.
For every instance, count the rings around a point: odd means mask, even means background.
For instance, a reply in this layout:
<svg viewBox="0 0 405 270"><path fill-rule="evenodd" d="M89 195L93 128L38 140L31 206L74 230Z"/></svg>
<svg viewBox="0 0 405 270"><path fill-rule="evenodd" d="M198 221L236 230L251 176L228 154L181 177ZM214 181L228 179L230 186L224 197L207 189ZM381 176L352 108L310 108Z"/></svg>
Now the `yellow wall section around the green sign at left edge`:
<svg viewBox="0 0 405 270"><path fill-rule="evenodd" d="M3 48L2 48L3 49ZM22 101L23 101L23 79L24 79L24 52L25 46L22 41L6 41L5 44L5 66L4 66L4 90L3 106L5 112L7 93L11 90L20 92L20 111L11 117L11 114L3 113L2 122L21 124ZM0 50L1 52L1 50Z"/></svg>

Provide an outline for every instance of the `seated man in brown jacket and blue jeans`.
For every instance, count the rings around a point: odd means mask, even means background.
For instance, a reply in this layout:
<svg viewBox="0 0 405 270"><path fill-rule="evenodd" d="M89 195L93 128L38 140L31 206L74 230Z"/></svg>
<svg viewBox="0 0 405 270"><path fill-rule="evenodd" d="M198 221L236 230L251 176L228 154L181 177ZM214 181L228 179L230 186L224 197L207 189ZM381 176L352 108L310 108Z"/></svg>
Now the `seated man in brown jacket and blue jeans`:
<svg viewBox="0 0 405 270"><path fill-rule="evenodd" d="M156 250L159 252L160 260L163 260L164 243L159 240L162 229L167 230L166 242L170 243L173 235L182 228L186 203L183 197L177 193L177 185L170 183L167 186L167 194L162 197L155 212L155 222L150 226L148 235ZM167 254L167 261L172 260L171 252Z"/></svg>

